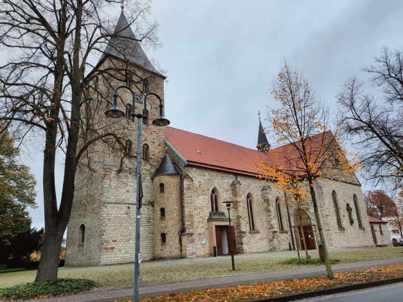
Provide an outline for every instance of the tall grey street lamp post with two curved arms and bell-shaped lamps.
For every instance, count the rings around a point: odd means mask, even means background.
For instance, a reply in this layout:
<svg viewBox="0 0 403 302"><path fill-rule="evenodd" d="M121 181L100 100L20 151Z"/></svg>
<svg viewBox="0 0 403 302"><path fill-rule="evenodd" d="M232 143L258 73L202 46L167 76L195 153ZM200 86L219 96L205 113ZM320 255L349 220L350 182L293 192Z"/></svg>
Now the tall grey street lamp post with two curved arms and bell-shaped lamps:
<svg viewBox="0 0 403 302"><path fill-rule="evenodd" d="M159 117L153 120L153 125L157 126L159 129L164 129L167 125L169 125L169 120L166 119L162 114L162 100L154 92L146 93L144 96L144 109L143 113L136 113L135 105L136 105L136 96L141 97L141 95L134 92L128 86L121 85L116 87L113 93L113 105L111 108L105 111L105 115L109 118L111 122L119 121L124 115L125 112L117 106L117 91L121 88L127 89L131 92L132 96L132 105L131 105L131 121L135 121L135 117L137 117L137 173L136 173L136 246L135 246L135 292L134 292L134 302L139 302L139 289L140 289L140 217L141 217L141 207L142 207L142 176L141 176L141 136L142 136L142 119L147 119L147 98L150 95L153 95L158 98L160 101L160 114Z"/></svg>

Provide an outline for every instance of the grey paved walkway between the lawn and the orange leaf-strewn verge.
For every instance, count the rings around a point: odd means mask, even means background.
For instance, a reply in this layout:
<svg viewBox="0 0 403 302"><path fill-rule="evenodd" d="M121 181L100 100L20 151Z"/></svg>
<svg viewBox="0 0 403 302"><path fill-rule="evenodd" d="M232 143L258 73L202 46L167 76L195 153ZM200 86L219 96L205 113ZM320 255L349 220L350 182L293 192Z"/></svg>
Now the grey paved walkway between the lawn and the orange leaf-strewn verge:
<svg viewBox="0 0 403 302"><path fill-rule="evenodd" d="M371 267L393 265L403 263L403 258L393 258L385 260L371 260L352 263L343 263L332 265L333 272L342 272L350 270L367 269ZM323 265L306 266L303 268L287 269L279 271L261 272L254 274L234 275L228 277L216 277L210 279L198 279L193 281L183 281L175 283L166 283L159 285L149 285L140 287L140 296L153 296L170 292L185 292L191 290L200 290L207 288L217 288L234 285L252 284L256 282L270 282L283 279L307 278L323 275L326 270ZM71 296L37 299L40 302L84 302L101 301L109 302L116 299L129 299L133 295L133 288L113 289L104 291L95 291L90 293L81 293ZM32 300L30 300L32 301Z"/></svg>

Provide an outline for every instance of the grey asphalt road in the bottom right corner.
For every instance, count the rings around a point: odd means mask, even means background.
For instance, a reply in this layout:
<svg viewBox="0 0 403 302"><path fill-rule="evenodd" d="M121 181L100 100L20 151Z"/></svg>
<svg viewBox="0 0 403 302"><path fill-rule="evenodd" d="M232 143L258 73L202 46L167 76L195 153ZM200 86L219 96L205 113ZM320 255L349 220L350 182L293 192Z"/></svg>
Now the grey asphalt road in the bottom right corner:
<svg viewBox="0 0 403 302"><path fill-rule="evenodd" d="M320 297L297 300L295 302L401 302L403 301L403 282L352 290Z"/></svg>

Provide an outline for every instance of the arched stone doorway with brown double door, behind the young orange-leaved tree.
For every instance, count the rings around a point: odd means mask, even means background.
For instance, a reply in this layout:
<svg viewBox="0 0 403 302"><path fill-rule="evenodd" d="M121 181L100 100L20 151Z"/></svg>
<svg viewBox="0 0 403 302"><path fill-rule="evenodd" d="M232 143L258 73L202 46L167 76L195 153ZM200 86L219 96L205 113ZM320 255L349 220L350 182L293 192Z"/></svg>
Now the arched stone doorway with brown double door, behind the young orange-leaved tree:
<svg viewBox="0 0 403 302"><path fill-rule="evenodd" d="M315 250L315 236L312 228L311 217L303 209L296 209L294 211L294 226L298 232L296 232L296 237L298 236L297 244L299 249L304 250L304 238L307 250Z"/></svg>

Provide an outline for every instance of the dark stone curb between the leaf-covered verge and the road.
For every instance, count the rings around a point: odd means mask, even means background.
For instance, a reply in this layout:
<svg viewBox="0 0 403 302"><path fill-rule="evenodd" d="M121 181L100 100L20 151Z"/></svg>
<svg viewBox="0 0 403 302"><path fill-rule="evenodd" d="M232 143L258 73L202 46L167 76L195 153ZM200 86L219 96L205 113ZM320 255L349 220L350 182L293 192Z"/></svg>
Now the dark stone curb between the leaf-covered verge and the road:
<svg viewBox="0 0 403 302"><path fill-rule="evenodd" d="M391 279L371 281L371 282L366 282L366 283L357 283L357 284L351 284L351 285L342 285L342 286L338 286L338 287L330 287L330 288L326 288L326 289L318 289L318 290L314 290L314 291L301 292L301 293L297 293L297 294L282 295L282 296L277 296L277 297L268 297L268 298L263 298L263 299L252 300L251 302L288 302L288 301L306 299L306 298L311 298L311 297L316 297L316 296L321 296L321 295L326 295L326 294L340 293L340 292L351 291L351 290L356 290L356 289L363 289L363 288L368 288L368 287L392 284L392 283L397 283L397 282L402 282L402 281L403 281L403 277L397 277L397 278L391 278Z"/></svg>

